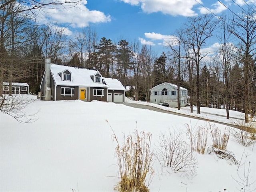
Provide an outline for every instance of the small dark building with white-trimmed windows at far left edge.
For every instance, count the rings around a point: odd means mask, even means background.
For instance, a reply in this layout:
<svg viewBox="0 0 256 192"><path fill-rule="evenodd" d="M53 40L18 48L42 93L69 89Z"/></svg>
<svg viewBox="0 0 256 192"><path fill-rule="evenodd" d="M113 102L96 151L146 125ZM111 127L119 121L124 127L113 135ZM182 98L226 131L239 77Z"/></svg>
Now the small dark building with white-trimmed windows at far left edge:
<svg viewBox="0 0 256 192"><path fill-rule="evenodd" d="M8 94L9 92L9 83L3 82L3 93ZM18 83L12 82L12 93L13 94L28 94L29 85L27 83Z"/></svg>

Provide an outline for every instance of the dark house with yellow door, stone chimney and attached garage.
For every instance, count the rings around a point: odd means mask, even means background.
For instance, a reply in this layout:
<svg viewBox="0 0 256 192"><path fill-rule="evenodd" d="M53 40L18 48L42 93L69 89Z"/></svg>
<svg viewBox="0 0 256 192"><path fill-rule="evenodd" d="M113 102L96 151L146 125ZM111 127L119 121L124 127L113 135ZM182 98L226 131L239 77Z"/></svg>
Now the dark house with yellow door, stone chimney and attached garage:
<svg viewBox="0 0 256 192"><path fill-rule="evenodd" d="M125 88L117 79L104 78L96 69L50 64L40 84L41 100L124 102Z"/></svg>

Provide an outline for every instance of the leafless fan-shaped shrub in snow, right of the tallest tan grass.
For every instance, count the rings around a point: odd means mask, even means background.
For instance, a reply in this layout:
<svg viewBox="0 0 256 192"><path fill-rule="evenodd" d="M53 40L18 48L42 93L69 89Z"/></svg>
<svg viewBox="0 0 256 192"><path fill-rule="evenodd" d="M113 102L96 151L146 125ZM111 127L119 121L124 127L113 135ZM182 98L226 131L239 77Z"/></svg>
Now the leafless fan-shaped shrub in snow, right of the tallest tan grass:
<svg viewBox="0 0 256 192"><path fill-rule="evenodd" d="M164 166L175 172L193 172L196 170L196 158L182 137L182 132L161 134L156 147L156 157Z"/></svg>

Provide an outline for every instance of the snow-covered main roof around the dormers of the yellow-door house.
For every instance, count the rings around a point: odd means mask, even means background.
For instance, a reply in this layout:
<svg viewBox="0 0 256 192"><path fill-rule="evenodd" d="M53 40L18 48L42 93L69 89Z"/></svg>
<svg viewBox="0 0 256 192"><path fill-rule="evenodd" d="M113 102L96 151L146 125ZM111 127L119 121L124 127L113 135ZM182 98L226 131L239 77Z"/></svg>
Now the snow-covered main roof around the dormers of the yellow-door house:
<svg viewBox="0 0 256 192"><path fill-rule="evenodd" d="M71 73L71 81L62 81L59 75L59 73L66 70ZM51 64L51 73L56 85L108 87L108 85L104 83L95 83L92 80L91 76L100 74L96 69Z"/></svg>

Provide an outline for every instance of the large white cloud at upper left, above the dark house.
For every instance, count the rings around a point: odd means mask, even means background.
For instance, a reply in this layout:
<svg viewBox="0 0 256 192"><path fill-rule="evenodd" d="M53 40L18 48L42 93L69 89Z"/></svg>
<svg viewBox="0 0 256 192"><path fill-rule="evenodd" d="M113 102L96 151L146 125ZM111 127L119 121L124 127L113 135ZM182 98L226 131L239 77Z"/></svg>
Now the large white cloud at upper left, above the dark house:
<svg viewBox="0 0 256 192"><path fill-rule="evenodd" d="M87 1L82 0L75 7L72 5L67 9L51 8L46 13L38 13L42 21L57 22L58 24L70 24L74 28L82 28L88 26L89 23L110 22L110 16L106 16L103 12L97 10L89 10L86 8Z"/></svg>

